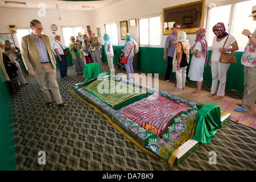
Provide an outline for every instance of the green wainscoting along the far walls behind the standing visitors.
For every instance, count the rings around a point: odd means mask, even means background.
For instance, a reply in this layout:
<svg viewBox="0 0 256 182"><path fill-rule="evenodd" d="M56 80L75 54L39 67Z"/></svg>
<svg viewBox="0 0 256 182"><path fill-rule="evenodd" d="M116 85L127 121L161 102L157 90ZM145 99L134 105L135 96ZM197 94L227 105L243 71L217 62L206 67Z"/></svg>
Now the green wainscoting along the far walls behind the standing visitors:
<svg viewBox="0 0 256 182"><path fill-rule="evenodd" d="M117 64L118 57L120 56L120 51L123 49L123 46L113 46L115 49L115 55L114 55L114 64ZM140 47L139 48L139 55L138 55L138 64L139 69L146 72L151 73L159 73L160 75L165 75L166 68L167 68L167 61L163 59L164 56L164 48L151 48L151 47ZM69 48L68 48L69 52ZM209 57L212 53L212 51L209 52ZM192 55L190 55L192 57ZM236 64L230 64L227 78L226 78L226 89L233 89L237 90L239 92L243 92L243 82L244 82L244 76L243 76L243 65L241 65L241 57L242 52L236 52ZM68 66L73 65L72 56L67 56ZM105 56L105 49L104 45L102 45L102 62L107 63L107 59ZM56 67L59 68L59 63L57 62ZM190 63L187 68L187 75L189 72ZM25 68L25 67L24 67ZM27 72L25 68L25 72ZM171 73L171 77L175 77L175 73ZM189 78L187 77L187 80ZM210 71L210 66L207 64L207 67L204 69L204 81L203 84L211 85L212 84L212 72Z"/></svg>

